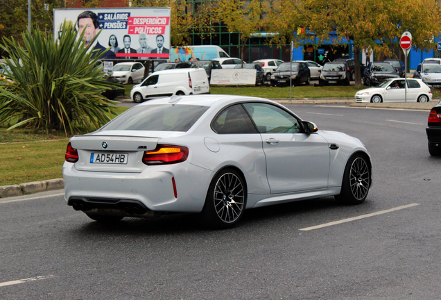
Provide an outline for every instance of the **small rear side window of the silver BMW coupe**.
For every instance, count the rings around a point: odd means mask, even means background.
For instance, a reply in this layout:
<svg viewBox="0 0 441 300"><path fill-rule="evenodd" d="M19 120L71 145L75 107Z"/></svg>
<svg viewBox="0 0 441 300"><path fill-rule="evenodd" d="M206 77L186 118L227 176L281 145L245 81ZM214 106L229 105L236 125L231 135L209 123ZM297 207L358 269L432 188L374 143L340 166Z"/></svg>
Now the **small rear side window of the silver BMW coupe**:
<svg viewBox="0 0 441 300"><path fill-rule="evenodd" d="M211 123L211 128L219 134L257 133L241 104L223 110Z"/></svg>

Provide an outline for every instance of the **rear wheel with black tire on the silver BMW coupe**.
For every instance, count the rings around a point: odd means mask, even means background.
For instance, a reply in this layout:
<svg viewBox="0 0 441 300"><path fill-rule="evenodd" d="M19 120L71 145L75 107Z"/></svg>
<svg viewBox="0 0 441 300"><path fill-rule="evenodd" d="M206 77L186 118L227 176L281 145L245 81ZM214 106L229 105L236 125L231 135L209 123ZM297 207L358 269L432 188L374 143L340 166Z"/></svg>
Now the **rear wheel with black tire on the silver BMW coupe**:
<svg viewBox="0 0 441 300"><path fill-rule="evenodd" d="M235 169L223 169L209 185L202 219L212 228L231 228L241 219L246 201L247 190L242 175Z"/></svg>

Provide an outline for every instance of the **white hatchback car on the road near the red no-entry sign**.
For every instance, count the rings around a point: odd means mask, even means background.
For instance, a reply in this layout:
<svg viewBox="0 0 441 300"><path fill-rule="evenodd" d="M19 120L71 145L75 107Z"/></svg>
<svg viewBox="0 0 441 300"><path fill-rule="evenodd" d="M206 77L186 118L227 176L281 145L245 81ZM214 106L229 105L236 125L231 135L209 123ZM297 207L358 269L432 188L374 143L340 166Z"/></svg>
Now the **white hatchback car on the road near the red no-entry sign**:
<svg viewBox="0 0 441 300"><path fill-rule="evenodd" d="M392 78L374 88L359 90L355 94L356 102L428 102L432 100L431 88L421 79L407 79L407 95L404 78Z"/></svg>

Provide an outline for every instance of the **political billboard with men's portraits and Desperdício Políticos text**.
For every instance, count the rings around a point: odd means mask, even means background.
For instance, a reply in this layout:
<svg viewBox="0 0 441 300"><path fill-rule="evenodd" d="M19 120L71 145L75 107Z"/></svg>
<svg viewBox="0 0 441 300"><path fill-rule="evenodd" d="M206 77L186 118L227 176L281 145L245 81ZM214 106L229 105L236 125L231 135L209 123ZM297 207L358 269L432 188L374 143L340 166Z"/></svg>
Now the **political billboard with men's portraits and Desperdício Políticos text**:
<svg viewBox="0 0 441 300"><path fill-rule="evenodd" d="M169 60L171 8L69 8L53 10L54 38L62 23L76 24L86 46L110 48L102 60ZM62 28L61 28L62 30Z"/></svg>

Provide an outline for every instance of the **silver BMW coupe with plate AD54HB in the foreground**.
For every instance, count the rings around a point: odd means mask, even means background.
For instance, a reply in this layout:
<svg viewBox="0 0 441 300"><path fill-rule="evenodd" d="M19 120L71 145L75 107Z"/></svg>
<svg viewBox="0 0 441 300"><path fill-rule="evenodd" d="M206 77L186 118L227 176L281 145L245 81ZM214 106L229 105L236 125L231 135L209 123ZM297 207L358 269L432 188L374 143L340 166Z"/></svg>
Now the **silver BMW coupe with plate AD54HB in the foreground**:
<svg viewBox="0 0 441 300"><path fill-rule="evenodd" d="M275 101L190 95L141 103L74 136L63 178L67 204L100 222L201 213L228 228L248 208L362 203L372 163L357 138L319 131Z"/></svg>

